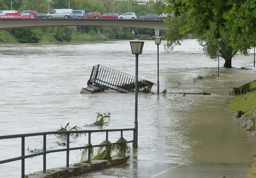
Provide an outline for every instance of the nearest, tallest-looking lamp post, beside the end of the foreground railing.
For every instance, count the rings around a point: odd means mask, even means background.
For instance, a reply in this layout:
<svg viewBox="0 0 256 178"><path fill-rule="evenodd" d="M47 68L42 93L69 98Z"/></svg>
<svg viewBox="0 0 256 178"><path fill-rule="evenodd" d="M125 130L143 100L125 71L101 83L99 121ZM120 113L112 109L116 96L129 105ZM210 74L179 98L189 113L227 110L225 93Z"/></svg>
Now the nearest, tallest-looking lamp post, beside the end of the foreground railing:
<svg viewBox="0 0 256 178"><path fill-rule="evenodd" d="M136 56L135 60L135 131L134 131L134 148L138 147L138 56L142 53L144 41L138 39L130 41L132 54Z"/></svg>

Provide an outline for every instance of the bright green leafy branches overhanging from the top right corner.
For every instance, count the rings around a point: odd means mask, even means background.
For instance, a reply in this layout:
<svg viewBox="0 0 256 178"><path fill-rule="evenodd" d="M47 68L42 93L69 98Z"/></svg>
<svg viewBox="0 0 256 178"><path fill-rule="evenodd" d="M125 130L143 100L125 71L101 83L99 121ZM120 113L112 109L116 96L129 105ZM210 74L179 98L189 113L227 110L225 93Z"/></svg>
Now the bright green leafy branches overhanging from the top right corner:
<svg viewBox="0 0 256 178"><path fill-rule="evenodd" d="M168 12L176 16L186 14L181 33L196 31L205 34L214 26L211 37L214 45L218 39L229 37L228 45L234 51L247 54L256 39L256 0L167 0Z"/></svg>

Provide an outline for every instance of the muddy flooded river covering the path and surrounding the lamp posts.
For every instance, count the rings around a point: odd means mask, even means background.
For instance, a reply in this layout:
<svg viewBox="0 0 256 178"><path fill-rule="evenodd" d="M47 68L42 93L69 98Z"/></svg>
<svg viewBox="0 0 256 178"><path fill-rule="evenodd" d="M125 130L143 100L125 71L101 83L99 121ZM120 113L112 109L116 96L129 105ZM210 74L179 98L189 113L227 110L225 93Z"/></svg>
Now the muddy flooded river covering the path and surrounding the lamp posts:
<svg viewBox="0 0 256 178"><path fill-rule="evenodd" d="M145 41L138 58L139 78L157 81L156 50L154 41ZM220 60L219 77L197 82L193 79L198 75L215 75L218 61L209 59L196 40L186 40L170 53L164 51L163 44L159 50L160 92L167 89L167 94L138 95L139 148L131 154L142 162L230 167L238 164L240 172L245 172L247 164L254 162L256 137L232 118L227 102L232 98L229 96L232 87L255 80L253 50L248 56L235 57L231 69L223 68L224 60ZM56 131L68 122L71 127L89 129L84 125L96 121L97 112L111 113L109 125L104 129L134 127L134 94L109 90L80 94L94 65L135 75L135 55L129 41L2 44L0 56L0 135ZM156 90L155 85L153 92ZM182 96L173 92L211 95ZM86 142L78 140L80 145ZM30 150L41 147L37 139L26 143ZM49 147L58 146L53 141ZM71 154L70 164L78 162L79 154ZM50 155L47 169L66 165L65 153ZM20 156L20 139L0 140L1 160L9 156ZM25 174L42 170L39 157L26 160ZM225 172L217 170L212 177L221 175ZM230 175L238 177L237 172ZM1 164L0 177L20 177L20 161Z"/></svg>

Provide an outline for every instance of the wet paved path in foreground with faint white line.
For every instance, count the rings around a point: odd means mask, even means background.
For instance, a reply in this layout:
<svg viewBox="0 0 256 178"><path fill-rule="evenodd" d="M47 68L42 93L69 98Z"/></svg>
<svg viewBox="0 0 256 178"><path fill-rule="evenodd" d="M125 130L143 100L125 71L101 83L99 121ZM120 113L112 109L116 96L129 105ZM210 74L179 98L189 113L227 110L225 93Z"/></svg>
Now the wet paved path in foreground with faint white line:
<svg viewBox="0 0 256 178"><path fill-rule="evenodd" d="M74 178L244 178L248 166L239 164L172 164L130 158L126 163Z"/></svg>

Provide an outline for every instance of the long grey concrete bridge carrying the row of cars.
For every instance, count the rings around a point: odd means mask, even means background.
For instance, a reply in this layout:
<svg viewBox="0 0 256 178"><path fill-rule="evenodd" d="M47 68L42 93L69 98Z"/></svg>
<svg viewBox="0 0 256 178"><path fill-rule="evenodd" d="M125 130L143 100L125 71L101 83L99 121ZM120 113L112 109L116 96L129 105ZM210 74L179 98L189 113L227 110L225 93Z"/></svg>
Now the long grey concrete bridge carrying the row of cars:
<svg viewBox="0 0 256 178"><path fill-rule="evenodd" d="M167 29L168 24L163 20L132 20L132 19L62 19L62 18L31 18L31 19L0 19L0 30L20 29L28 27L51 27L51 26L118 26L140 27L156 29L155 35L159 35L159 29Z"/></svg>

